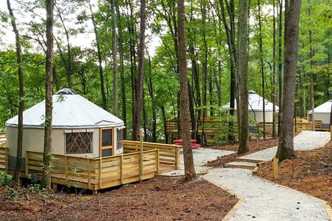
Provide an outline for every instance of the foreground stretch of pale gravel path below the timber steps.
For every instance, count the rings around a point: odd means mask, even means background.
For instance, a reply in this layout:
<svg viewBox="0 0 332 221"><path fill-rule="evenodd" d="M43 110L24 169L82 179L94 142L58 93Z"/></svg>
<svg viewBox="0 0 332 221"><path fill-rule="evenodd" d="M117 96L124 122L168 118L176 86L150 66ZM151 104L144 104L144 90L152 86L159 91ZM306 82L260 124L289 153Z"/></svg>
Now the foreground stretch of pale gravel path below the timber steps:
<svg viewBox="0 0 332 221"><path fill-rule="evenodd" d="M319 199L251 175L248 169L209 170L203 178L244 199L230 220L329 220Z"/></svg>

